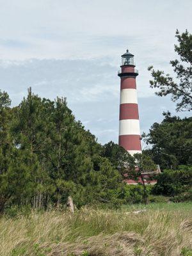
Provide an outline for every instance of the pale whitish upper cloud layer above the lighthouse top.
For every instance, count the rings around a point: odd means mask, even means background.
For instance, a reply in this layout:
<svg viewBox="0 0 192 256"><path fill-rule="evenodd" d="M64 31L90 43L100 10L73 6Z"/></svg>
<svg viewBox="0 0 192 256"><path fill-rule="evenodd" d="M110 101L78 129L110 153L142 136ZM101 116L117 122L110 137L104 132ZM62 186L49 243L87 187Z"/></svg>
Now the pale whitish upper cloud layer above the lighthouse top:
<svg viewBox="0 0 192 256"><path fill-rule="evenodd" d="M95 58L131 47L138 63L173 54L175 29L191 29L190 0L7 0L1 4L1 38L28 45L1 45L5 59ZM171 10L171 17L170 17ZM187 24L187 25L186 25ZM24 49L26 48L26 49ZM154 52L155 55L154 56ZM155 58L154 58L155 57Z"/></svg>

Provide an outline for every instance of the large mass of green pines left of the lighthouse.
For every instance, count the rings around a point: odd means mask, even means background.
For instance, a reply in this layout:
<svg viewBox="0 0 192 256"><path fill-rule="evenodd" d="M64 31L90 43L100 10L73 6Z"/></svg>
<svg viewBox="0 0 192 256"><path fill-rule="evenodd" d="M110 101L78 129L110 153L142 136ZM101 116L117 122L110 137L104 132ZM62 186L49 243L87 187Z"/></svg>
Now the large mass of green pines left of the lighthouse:
<svg viewBox="0 0 192 256"><path fill-rule="evenodd" d="M29 88L19 106L10 108L8 95L1 94L0 211L6 207L14 216L17 206L60 207L69 195L76 207L119 204L111 193L121 186L116 166L75 120L66 99L41 99Z"/></svg>

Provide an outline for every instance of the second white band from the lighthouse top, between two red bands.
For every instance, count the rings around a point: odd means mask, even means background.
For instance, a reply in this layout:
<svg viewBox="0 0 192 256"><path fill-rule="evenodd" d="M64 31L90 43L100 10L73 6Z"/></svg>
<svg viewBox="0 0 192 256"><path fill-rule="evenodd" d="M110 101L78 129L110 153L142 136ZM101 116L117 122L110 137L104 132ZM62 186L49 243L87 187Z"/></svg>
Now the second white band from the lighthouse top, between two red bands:
<svg viewBox="0 0 192 256"><path fill-rule="evenodd" d="M125 119L119 121L119 135L140 135L140 120Z"/></svg>

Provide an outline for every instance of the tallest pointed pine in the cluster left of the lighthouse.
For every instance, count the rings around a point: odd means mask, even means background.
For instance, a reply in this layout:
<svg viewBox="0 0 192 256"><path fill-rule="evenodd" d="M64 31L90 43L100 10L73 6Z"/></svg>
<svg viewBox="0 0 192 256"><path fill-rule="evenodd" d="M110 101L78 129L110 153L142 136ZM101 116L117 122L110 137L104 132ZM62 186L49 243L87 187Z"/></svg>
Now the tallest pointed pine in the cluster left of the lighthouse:
<svg viewBox="0 0 192 256"><path fill-rule="evenodd" d="M28 194L24 193L24 188L22 188L23 193L20 195L18 193L17 201L14 200L15 204L26 202L35 208L41 208L46 194L51 190L46 162L41 156L41 152L49 133L50 111L47 109L51 108L52 104L51 101L42 100L38 95L33 94L29 88L28 97L24 98L15 110L11 131L17 147L16 163L15 168L11 168L8 175L13 176L14 171L26 173L26 178L22 176L23 178L20 179L28 179L28 186L30 186L30 189L28 188L30 193ZM19 177L15 174L15 177L17 176ZM22 180L15 183L15 186L19 186L19 183L22 184ZM22 195L26 195L27 198L20 200Z"/></svg>

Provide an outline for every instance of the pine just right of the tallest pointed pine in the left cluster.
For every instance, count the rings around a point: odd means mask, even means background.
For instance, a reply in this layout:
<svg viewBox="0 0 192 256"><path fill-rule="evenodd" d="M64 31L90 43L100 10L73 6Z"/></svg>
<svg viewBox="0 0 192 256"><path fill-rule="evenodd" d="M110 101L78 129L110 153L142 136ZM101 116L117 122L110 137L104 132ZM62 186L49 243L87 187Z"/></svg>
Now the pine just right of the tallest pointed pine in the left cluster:
<svg viewBox="0 0 192 256"><path fill-rule="evenodd" d="M54 189L53 198L59 206L62 194L68 191L68 175L74 170L74 116L67 108L66 99L58 97L47 108L47 116L47 137L40 156L45 159L45 168ZM65 199L67 200L67 196Z"/></svg>

